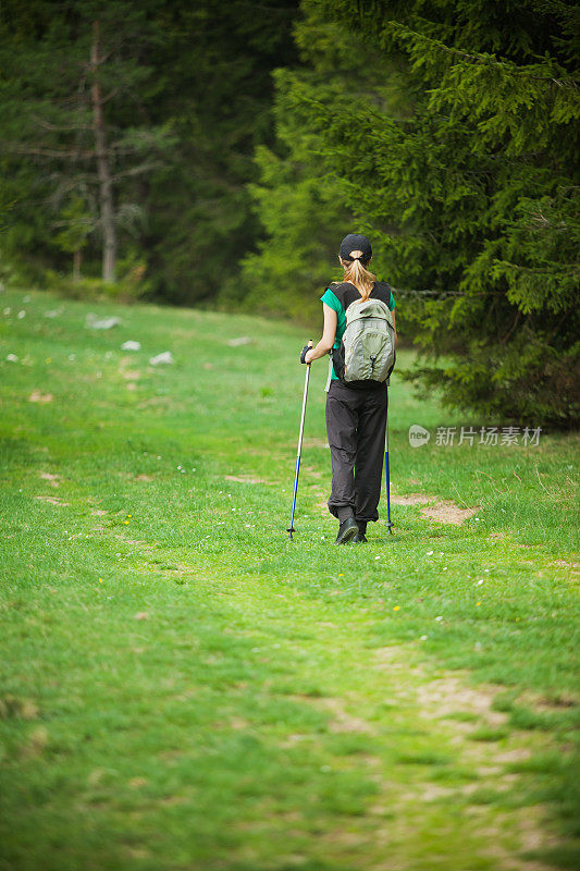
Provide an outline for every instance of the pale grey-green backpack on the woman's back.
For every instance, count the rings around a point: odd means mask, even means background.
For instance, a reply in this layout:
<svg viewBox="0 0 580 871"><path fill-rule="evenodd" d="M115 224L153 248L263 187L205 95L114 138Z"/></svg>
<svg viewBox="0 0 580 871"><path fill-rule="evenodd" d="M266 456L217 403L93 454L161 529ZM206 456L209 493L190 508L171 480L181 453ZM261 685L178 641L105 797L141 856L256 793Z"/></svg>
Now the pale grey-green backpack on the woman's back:
<svg viewBox="0 0 580 871"><path fill-rule="evenodd" d="M350 303L343 341L333 349L332 363L341 381L351 388L388 380L395 366L395 328L386 303Z"/></svg>

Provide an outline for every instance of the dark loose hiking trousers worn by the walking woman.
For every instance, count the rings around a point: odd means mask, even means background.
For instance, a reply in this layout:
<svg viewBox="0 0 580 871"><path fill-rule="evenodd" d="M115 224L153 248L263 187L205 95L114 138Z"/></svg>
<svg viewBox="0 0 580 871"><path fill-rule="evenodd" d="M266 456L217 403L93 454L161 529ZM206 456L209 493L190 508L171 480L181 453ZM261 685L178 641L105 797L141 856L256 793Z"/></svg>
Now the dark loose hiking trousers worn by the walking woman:
<svg viewBox="0 0 580 871"><path fill-rule="evenodd" d="M355 390L331 381L326 396L326 432L332 457L329 511L350 506L357 520L378 520L381 496L386 385Z"/></svg>

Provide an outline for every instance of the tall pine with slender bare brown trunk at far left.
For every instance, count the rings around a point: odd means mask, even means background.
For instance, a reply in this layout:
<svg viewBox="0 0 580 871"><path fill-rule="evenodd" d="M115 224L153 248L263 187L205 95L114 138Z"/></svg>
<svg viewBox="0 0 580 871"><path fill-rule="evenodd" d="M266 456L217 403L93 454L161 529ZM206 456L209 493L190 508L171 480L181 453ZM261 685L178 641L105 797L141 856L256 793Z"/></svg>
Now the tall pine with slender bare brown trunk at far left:
<svg viewBox="0 0 580 871"><path fill-rule="evenodd" d="M20 204L14 235L18 219L30 233L34 200L44 221L37 241L50 247L52 228L90 188L98 219L85 226L100 240L102 280L113 282L119 228L131 230L127 219L140 212L135 180L171 143L166 127L135 124L138 89L151 77L146 15L123 2L39 0L30 9L7 0L1 24L3 164ZM72 220L78 229L76 212Z"/></svg>

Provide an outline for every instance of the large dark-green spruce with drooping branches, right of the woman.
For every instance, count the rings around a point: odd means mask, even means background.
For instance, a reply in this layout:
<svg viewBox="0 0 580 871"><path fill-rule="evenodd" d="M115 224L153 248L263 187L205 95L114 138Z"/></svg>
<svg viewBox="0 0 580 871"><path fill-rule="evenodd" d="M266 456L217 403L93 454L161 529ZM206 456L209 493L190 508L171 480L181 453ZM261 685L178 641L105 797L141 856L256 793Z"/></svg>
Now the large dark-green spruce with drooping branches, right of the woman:
<svg viewBox="0 0 580 871"><path fill-rule="evenodd" d="M412 111L295 91L344 197L381 238L422 360L449 404L579 419L575 8L307 0L404 65ZM399 294L400 295L400 294Z"/></svg>

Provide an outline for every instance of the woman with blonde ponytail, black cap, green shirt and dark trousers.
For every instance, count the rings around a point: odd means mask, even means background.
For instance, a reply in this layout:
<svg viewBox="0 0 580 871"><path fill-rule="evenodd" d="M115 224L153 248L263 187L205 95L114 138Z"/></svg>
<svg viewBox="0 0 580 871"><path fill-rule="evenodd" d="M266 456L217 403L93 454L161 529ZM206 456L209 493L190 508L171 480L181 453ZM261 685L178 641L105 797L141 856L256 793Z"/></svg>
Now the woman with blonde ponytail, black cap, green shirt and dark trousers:
<svg viewBox="0 0 580 871"><path fill-rule="evenodd" d="M366 542L367 524L379 519L377 507L381 495L387 377L383 378L383 370L380 372L383 380L371 380L366 371L365 380L349 383L344 380L344 359L341 364L340 356L349 306L379 299L392 312L395 328L395 300L391 287L377 281L377 275L369 271L371 257L371 244L366 236L349 233L342 241L338 259L344 269L344 281L333 282L321 296L324 312L322 339L316 347L303 349L300 357L310 364L332 353L326 384L326 432L332 458L332 492L328 505L340 523L336 544ZM374 308L385 311L384 306ZM351 309L348 317L356 317L356 309ZM394 345L391 344L393 354L395 346L396 329ZM392 359L394 364L394 356Z"/></svg>

